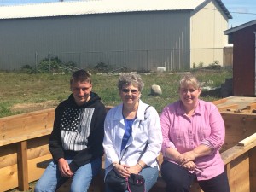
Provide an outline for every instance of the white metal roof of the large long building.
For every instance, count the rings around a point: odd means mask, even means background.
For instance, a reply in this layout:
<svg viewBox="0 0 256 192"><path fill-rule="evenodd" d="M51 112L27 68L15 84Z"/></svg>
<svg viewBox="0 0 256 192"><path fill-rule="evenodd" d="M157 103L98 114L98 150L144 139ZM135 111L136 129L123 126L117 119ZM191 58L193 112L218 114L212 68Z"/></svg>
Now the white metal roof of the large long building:
<svg viewBox="0 0 256 192"><path fill-rule="evenodd" d="M205 1L207 0L88 0L3 6L0 7L0 19L137 11L193 10ZM217 2L221 3L220 0L217 0ZM221 4L223 5L223 3ZM225 12L225 14L227 13Z"/></svg>

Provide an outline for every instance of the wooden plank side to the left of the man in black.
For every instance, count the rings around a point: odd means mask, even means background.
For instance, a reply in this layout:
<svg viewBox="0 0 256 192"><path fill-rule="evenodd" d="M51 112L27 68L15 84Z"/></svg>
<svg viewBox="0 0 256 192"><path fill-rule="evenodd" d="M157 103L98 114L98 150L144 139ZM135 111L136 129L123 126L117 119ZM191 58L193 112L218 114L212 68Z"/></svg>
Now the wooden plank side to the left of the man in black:
<svg viewBox="0 0 256 192"><path fill-rule="evenodd" d="M55 108L0 118L0 191L28 190L41 177L54 119Z"/></svg>

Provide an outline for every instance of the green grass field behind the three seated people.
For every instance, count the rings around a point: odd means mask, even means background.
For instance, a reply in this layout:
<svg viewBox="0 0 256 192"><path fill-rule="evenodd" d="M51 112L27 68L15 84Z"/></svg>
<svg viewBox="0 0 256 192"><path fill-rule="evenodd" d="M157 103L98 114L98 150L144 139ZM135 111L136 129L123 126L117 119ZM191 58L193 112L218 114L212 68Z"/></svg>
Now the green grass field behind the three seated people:
<svg viewBox="0 0 256 192"><path fill-rule="evenodd" d="M220 87L225 79L232 77L232 72L229 70L212 68L214 69L193 69L190 73L194 73L204 87L211 88ZM143 102L154 106L160 112L166 104L177 100L178 80L184 73L141 73L141 75L145 83ZM53 75L0 72L0 117L54 108L71 93L70 76L70 73ZM116 86L118 78L119 74L92 74L93 91L102 97L105 105L115 106L120 102ZM161 96L150 96L152 84L160 85L163 92ZM203 90L202 93L201 98L209 102L221 98L219 89Z"/></svg>

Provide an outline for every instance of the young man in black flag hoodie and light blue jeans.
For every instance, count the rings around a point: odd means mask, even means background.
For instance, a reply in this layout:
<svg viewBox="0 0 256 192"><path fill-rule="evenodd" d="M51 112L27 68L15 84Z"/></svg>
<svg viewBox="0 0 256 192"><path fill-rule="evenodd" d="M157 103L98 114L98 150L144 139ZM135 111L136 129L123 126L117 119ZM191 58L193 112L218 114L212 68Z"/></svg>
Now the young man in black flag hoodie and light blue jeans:
<svg viewBox="0 0 256 192"><path fill-rule="evenodd" d="M55 122L49 137L53 161L35 186L35 192L53 192L73 178L71 192L89 189L92 177L101 170L105 106L91 92L90 74L84 70L70 79L72 94L55 109Z"/></svg>

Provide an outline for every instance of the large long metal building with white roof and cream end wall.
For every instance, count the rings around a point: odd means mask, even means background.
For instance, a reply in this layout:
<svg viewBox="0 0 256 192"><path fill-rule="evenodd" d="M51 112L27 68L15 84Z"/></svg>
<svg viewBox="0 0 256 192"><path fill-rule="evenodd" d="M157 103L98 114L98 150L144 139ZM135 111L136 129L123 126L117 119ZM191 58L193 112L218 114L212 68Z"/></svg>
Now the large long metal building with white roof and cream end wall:
<svg viewBox="0 0 256 192"><path fill-rule="evenodd" d="M0 7L0 69L58 56L154 71L223 64L232 18L220 0L89 0Z"/></svg>

